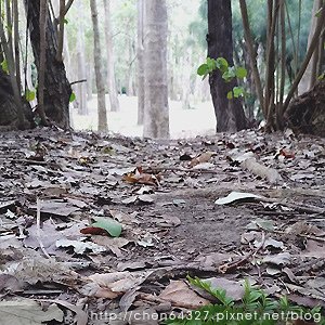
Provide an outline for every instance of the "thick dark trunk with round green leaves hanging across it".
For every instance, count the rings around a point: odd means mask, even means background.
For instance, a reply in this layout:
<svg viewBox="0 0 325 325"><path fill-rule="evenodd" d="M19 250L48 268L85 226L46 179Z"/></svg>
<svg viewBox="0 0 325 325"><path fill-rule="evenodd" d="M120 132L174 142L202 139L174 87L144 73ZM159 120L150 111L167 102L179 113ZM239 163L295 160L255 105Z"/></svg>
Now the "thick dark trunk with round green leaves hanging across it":
<svg viewBox="0 0 325 325"><path fill-rule="evenodd" d="M231 0L208 0L208 56L224 57L233 65L233 37ZM210 92L217 118L217 132L238 131L246 128L243 106L237 99L226 94L236 80L224 82L219 70L209 77Z"/></svg>

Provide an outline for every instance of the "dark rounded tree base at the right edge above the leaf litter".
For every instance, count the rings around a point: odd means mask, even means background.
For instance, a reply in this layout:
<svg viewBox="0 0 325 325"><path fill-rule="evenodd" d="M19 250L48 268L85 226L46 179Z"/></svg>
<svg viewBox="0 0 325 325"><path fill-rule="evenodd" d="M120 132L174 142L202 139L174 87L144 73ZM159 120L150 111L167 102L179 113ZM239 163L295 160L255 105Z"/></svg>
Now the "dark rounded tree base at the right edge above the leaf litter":
<svg viewBox="0 0 325 325"><path fill-rule="evenodd" d="M325 81L295 99L286 114L288 127L297 133L325 136Z"/></svg>

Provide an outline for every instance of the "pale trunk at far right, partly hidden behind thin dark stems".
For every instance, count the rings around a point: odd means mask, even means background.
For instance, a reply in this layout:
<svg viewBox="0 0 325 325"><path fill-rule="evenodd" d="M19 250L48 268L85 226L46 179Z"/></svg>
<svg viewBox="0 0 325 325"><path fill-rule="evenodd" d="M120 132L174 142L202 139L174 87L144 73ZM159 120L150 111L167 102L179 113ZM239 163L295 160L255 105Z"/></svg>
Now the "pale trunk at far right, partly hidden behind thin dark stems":
<svg viewBox="0 0 325 325"><path fill-rule="evenodd" d="M310 30L309 30L309 37L308 37L308 48L310 47L310 43L312 41L312 38L314 36L314 32L316 30L317 26L317 20L316 13L317 11L322 8L323 5L323 0L314 0L314 5L311 14L311 25L310 25ZM324 44L322 44L324 47ZM315 83L316 81L316 66L318 62L318 47L316 47L316 50L314 51L314 54L309 62L306 73L301 78L301 81L298 86L298 93L302 94L307 91L309 91Z"/></svg>

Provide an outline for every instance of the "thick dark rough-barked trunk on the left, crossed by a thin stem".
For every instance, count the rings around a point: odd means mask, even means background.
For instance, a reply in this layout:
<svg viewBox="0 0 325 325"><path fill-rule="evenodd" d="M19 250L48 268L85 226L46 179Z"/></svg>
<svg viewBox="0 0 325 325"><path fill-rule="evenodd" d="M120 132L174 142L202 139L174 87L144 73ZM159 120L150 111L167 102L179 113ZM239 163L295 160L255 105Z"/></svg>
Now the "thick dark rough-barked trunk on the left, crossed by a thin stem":
<svg viewBox="0 0 325 325"><path fill-rule="evenodd" d="M27 20L29 22L30 42L36 66L40 63L40 1L25 0ZM66 78L63 62L56 61L57 35L48 13L44 78L44 110L47 117L63 129L69 128L69 99L72 87Z"/></svg>

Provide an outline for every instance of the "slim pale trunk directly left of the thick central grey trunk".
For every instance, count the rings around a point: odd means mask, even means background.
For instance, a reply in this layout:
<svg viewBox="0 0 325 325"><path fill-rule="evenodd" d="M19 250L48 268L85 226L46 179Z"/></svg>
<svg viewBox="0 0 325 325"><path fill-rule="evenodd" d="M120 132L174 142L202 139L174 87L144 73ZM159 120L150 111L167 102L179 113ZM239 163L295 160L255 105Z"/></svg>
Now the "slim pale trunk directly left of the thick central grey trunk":
<svg viewBox="0 0 325 325"><path fill-rule="evenodd" d="M144 112L144 57L143 57L144 0L138 0L138 125L143 125Z"/></svg>

